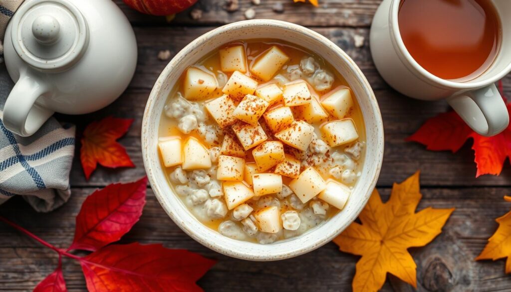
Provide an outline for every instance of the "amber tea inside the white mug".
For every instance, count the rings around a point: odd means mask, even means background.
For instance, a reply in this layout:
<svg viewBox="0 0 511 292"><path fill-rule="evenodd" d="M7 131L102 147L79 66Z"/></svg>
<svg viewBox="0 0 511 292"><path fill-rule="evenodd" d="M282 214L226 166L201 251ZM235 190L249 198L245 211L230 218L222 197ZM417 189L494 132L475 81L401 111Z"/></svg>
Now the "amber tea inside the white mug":
<svg viewBox="0 0 511 292"><path fill-rule="evenodd" d="M413 59L442 79L472 80L499 51L501 24L491 0L403 0L398 22Z"/></svg>

